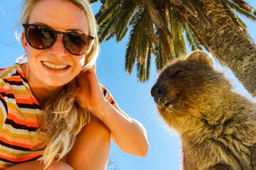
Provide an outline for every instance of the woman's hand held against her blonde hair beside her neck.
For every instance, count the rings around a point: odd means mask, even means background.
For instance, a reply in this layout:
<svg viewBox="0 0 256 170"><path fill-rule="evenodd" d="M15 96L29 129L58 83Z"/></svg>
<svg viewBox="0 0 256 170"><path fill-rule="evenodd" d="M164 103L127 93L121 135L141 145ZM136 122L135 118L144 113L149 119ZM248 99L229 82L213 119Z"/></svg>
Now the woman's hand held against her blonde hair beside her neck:
<svg viewBox="0 0 256 170"><path fill-rule="evenodd" d="M87 108L88 111L96 116L101 106L106 104L102 88L93 68L80 72L78 77L78 95L75 101L81 108Z"/></svg>

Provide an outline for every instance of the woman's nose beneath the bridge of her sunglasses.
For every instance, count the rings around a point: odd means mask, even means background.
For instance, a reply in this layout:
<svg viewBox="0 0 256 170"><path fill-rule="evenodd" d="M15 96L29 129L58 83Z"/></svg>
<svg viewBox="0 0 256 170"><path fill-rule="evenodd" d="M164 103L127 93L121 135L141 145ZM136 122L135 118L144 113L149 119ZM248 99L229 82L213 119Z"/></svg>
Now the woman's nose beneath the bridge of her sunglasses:
<svg viewBox="0 0 256 170"><path fill-rule="evenodd" d="M50 47L49 52L56 57L62 57L66 55L66 50L63 45L63 35L57 35L57 38L53 46Z"/></svg>

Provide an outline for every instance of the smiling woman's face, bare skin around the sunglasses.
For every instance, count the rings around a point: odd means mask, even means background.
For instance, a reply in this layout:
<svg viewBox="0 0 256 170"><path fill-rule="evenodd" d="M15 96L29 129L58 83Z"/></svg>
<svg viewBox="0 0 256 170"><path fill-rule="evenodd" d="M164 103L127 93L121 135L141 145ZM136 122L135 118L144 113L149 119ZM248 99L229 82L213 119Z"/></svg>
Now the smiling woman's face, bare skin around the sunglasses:
<svg viewBox="0 0 256 170"><path fill-rule="evenodd" d="M90 32L84 11L70 1L40 1L31 11L28 23L44 24L63 32L75 30L87 35ZM48 49L36 50L28 45L23 32L22 44L28 54L28 77L41 86L63 86L82 69L85 55L70 54L63 45L63 35L58 34ZM60 69L64 66L68 67Z"/></svg>

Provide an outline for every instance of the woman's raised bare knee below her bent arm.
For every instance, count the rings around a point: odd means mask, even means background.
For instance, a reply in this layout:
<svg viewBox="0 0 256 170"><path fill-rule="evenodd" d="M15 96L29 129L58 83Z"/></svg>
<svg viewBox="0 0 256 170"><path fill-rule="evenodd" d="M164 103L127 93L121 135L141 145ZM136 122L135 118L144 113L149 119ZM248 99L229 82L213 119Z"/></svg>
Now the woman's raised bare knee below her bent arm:
<svg viewBox="0 0 256 170"><path fill-rule="evenodd" d="M110 153L110 130L98 118L82 128L64 161L81 170L105 170Z"/></svg>

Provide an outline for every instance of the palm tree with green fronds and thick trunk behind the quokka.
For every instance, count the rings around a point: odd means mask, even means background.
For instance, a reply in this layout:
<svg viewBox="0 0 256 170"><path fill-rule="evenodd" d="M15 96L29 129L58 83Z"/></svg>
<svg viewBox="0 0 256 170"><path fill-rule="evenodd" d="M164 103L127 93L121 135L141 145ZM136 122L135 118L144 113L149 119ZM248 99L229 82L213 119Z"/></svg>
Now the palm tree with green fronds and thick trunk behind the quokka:
<svg viewBox="0 0 256 170"><path fill-rule="evenodd" d="M151 55L156 69L206 47L230 67L245 88L256 96L256 47L236 12L256 21L255 10L243 0L90 0L101 1L96 14L100 41L129 31L125 68L131 74L137 64L139 81L149 79Z"/></svg>

